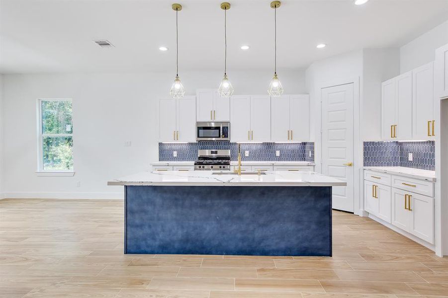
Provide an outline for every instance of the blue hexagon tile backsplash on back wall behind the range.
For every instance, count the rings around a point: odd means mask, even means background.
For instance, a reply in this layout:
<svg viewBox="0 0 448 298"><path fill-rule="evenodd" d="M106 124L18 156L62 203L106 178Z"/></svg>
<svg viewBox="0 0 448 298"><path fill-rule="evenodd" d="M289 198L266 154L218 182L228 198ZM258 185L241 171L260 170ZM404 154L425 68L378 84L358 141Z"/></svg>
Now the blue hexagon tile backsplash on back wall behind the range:
<svg viewBox="0 0 448 298"><path fill-rule="evenodd" d="M199 149L230 149L231 160L238 160L238 144L223 141L201 141L187 144L159 143L160 161L194 161ZM249 150L249 156L244 151ZM280 156L275 156L275 151ZM178 157L173 157L178 151ZM311 157L309 152L311 151ZM245 161L309 161L314 162L314 143L243 143L241 159Z"/></svg>

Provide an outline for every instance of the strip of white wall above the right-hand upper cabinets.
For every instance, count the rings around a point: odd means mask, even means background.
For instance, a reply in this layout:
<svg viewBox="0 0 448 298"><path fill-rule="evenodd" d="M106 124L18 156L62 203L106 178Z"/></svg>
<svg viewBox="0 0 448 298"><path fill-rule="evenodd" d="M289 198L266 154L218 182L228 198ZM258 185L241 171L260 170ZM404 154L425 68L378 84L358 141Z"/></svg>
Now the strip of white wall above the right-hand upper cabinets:
<svg viewBox="0 0 448 298"><path fill-rule="evenodd" d="M400 74L434 61L435 50L448 44L448 21L400 48Z"/></svg>

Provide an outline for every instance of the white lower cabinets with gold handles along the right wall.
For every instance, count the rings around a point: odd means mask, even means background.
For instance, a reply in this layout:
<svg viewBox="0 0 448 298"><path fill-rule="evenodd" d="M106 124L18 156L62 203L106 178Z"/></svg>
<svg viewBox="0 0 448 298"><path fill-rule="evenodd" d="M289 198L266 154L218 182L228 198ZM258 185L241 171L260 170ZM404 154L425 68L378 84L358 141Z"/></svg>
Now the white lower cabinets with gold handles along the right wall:
<svg viewBox="0 0 448 298"><path fill-rule="evenodd" d="M392 186L379 184L377 181L370 181L377 179L379 175L370 171L364 172L364 210L434 244L434 197L409 191L409 185L418 185L416 183L418 179L395 175L389 175L391 177L388 179L386 175L381 173L381 178L385 181L399 180L400 184L393 182ZM371 176L375 178L368 178ZM425 185L430 184L428 188L434 187L433 182L423 180L420 182ZM417 191L419 191L418 188Z"/></svg>

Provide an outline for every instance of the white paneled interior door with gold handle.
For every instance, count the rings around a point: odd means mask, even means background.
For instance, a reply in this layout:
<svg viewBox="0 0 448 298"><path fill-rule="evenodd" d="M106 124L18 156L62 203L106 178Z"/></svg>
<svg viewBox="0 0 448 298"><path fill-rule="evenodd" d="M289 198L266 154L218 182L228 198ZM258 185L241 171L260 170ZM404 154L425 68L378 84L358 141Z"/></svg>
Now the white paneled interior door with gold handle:
<svg viewBox="0 0 448 298"><path fill-rule="evenodd" d="M354 84L321 89L322 173L347 182L333 187L333 209L354 212Z"/></svg>

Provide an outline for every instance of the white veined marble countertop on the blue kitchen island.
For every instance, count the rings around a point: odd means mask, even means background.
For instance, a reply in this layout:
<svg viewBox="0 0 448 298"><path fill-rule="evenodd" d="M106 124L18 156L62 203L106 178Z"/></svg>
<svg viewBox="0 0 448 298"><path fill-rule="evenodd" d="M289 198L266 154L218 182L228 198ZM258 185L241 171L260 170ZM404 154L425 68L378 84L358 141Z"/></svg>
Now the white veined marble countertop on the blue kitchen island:
<svg viewBox="0 0 448 298"><path fill-rule="evenodd" d="M216 173L216 172L213 172ZM315 172L267 171L266 175L224 174L211 171L144 171L107 182L107 185L162 186L346 186L347 183Z"/></svg>

